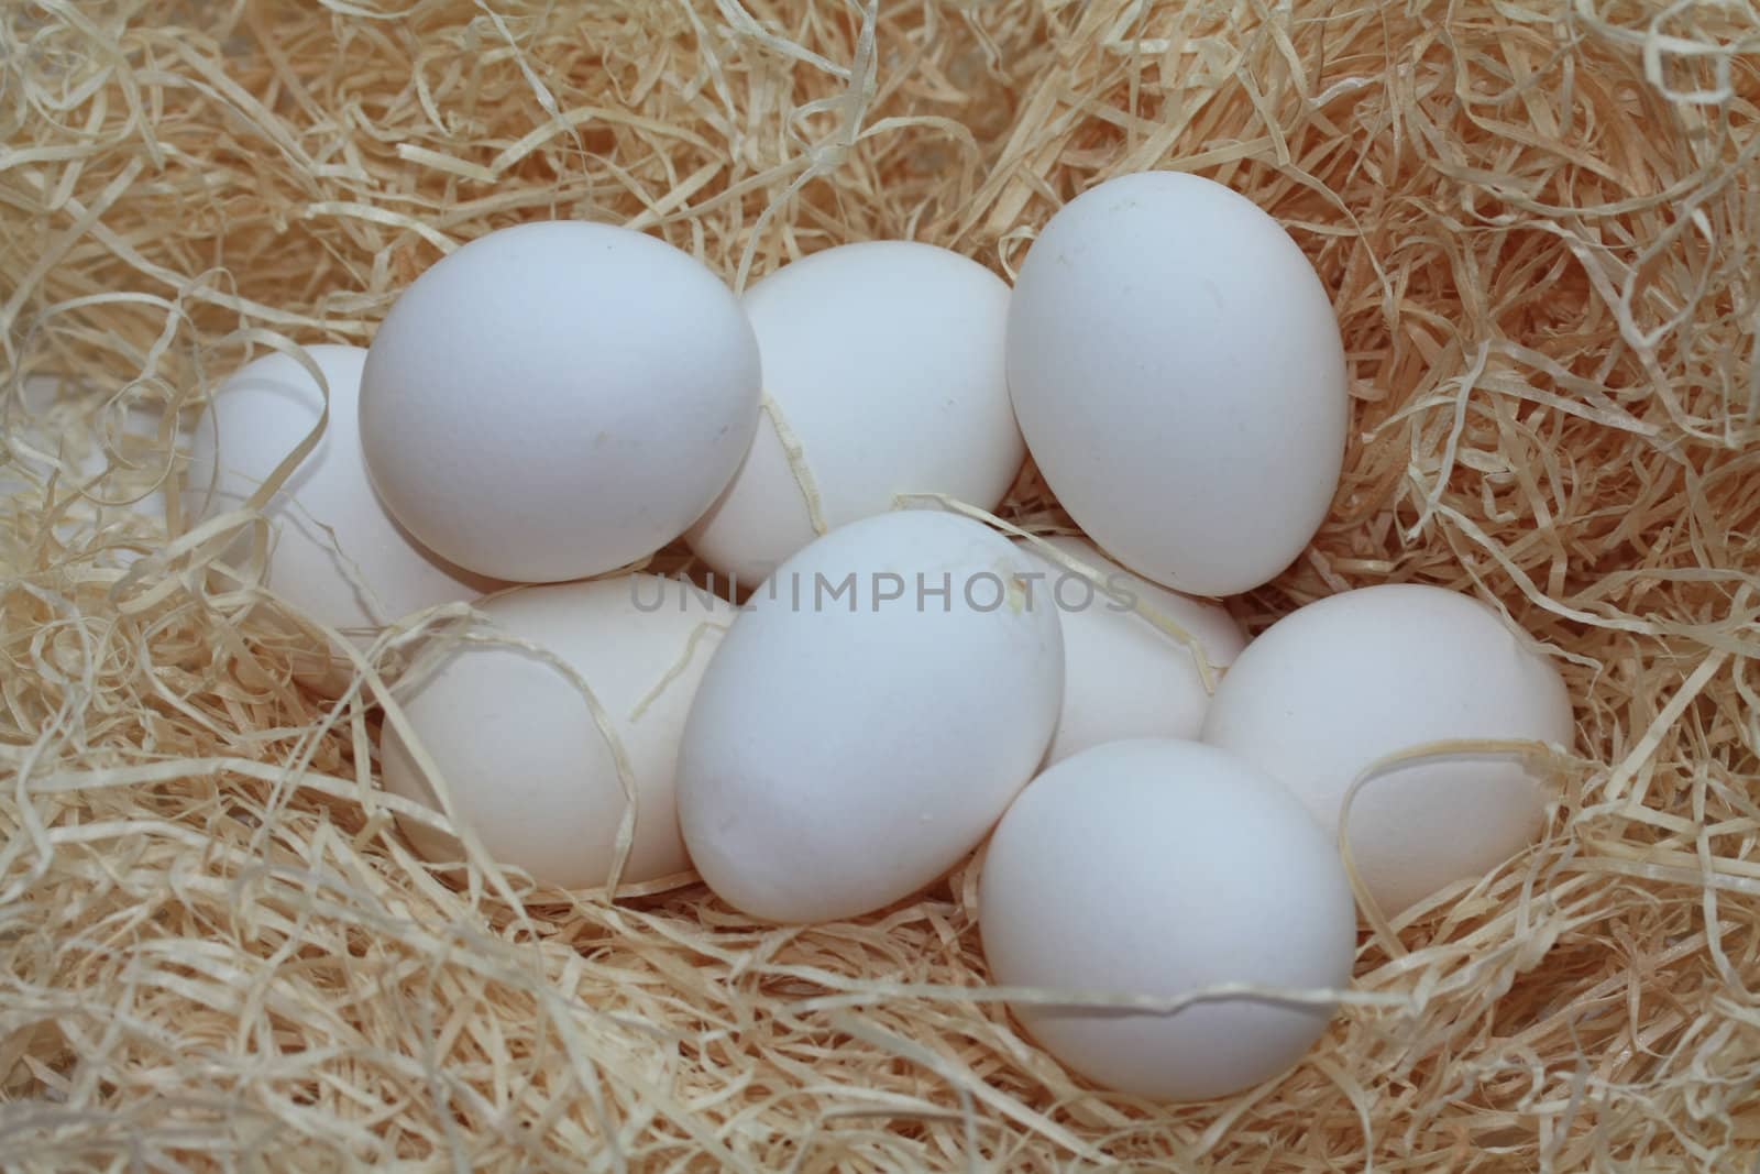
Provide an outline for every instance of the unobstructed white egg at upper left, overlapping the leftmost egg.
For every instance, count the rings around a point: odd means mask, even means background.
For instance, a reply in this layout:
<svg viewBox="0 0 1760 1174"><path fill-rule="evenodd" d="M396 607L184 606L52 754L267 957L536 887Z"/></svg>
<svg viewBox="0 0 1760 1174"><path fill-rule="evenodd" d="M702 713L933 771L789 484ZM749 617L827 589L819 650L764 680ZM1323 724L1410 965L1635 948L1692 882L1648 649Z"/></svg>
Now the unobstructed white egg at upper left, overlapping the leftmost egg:
<svg viewBox="0 0 1760 1174"><path fill-rule="evenodd" d="M502 229L422 273L373 338L366 463L461 567L549 583L658 551L727 488L759 419L734 294L641 232Z"/></svg>

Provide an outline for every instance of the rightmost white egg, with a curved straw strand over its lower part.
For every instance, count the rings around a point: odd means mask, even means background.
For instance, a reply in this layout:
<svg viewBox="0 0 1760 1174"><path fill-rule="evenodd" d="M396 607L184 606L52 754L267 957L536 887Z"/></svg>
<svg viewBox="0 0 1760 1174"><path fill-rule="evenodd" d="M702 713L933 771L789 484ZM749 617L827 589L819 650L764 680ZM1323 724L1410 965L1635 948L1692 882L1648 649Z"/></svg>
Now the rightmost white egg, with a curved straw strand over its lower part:
<svg viewBox="0 0 1760 1174"><path fill-rule="evenodd" d="M1302 607L1241 653L1204 741L1283 780L1338 834L1355 778L1376 759L1456 737L1572 743L1558 669L1466 595L1360 588ZM1380 774L1350 806L1350 850L1397 914L1528 845L1545 794L1514 760L1459 755Z"/></svg>

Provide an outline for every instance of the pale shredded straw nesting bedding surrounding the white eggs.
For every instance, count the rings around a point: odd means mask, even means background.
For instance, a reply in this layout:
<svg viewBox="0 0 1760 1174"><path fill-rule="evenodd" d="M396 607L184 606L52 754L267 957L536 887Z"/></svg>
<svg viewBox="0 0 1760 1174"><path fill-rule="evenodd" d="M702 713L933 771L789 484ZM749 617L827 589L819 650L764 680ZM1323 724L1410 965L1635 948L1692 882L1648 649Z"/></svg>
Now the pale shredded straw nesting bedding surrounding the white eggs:
<svg viewBox="0 0 1760 1174"><path fill-rule="evenodd" d="M0 1163L1753 1169L1756 102L1741 2L0 5ZM736 283L884 236L1007 273L1146 167L1280 216L1350 350L1332 519L1241 616L1473 591L1580 720L1545 843L1366 928L1360 998L1227 1102L1026 1044L970 864L810 929L442 884L371 706L290 688L248 569L130 505L165 405L364 343L498 225L627 222ZM1028 473L1007 512L1047 509Z"/></svg>

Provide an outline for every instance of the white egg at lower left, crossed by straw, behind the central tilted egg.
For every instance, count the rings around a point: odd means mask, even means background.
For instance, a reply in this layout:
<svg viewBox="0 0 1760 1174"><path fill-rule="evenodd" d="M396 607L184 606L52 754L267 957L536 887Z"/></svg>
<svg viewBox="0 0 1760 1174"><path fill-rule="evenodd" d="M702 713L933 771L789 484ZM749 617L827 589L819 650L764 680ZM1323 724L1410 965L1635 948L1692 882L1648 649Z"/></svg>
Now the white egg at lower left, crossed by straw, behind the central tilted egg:
<svg viewBox="0 0 1760 1174"><path fill-rule="evenodd" d="M498 632L579 672L611 718L637 797L621 880L688 869L672 790L678 741L734 605L678 579L637 574L521 588L480 611ZM567 676L519 648L468 644L398 697L458 820L496 861L565 889L609 880L628 801L611 743ZM387 790L442 808L389 722L382 764ZM463 857L452 836L414 820L403 829L428 859Z"/></svg>

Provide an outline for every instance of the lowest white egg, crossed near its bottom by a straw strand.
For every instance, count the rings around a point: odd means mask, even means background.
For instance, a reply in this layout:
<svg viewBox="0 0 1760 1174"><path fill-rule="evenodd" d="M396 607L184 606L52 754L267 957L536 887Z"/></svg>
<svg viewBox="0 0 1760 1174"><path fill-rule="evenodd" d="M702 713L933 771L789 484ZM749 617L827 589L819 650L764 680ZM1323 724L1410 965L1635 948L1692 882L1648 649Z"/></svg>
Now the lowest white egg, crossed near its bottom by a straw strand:
<svg viewBox="0 0 1760 1174"><path fill-rule="evenodd" d="M1045 1051L1158 1100L1278 1075L1332 1007L1230 998L1165 1014L1082 996L1339 989L1357 947L1350 882L1308 811L1239 759L1167 739L1095 746L1021 792L984 857L979 929L1000 986L1070 1000L1012 1005Z"/></svg>

